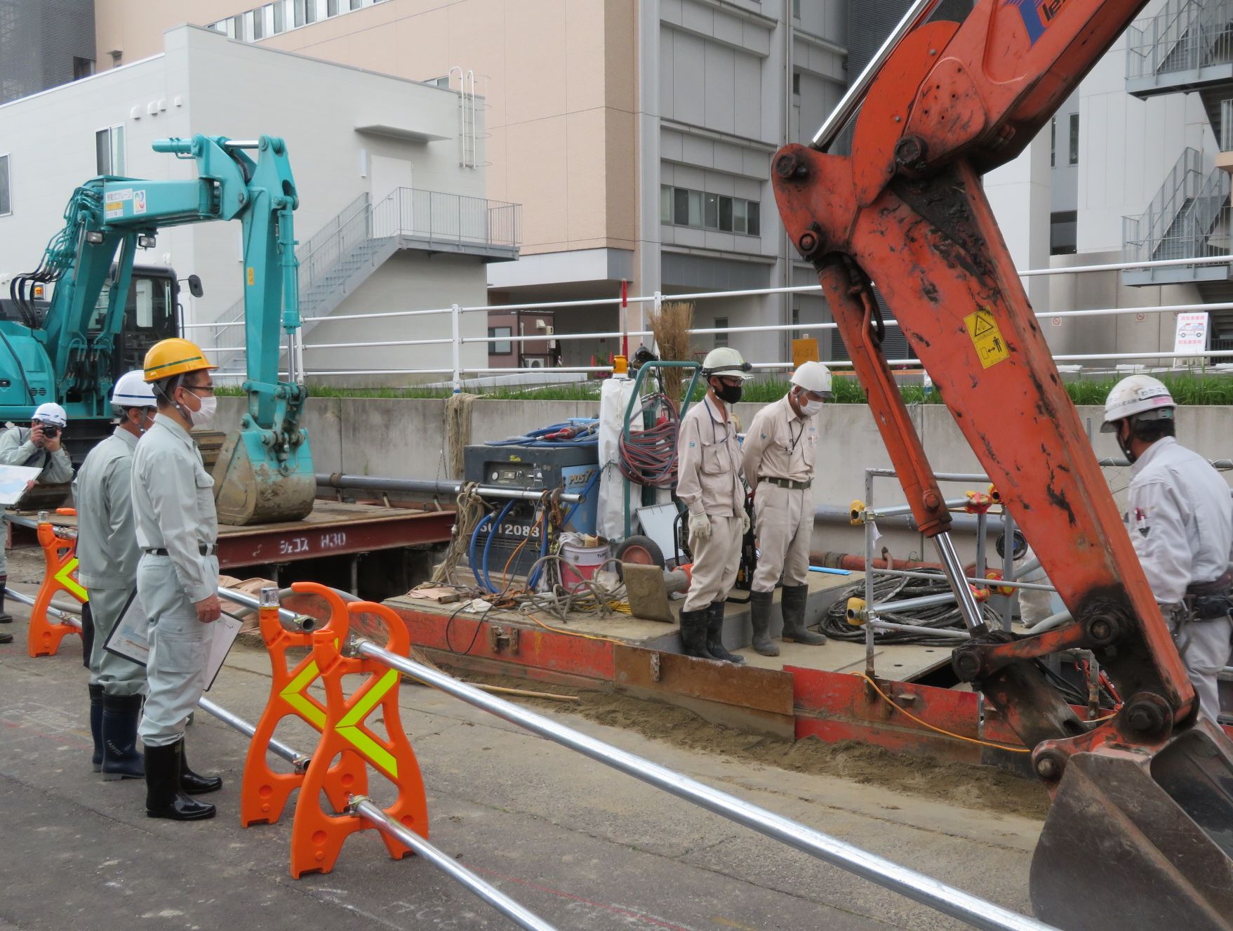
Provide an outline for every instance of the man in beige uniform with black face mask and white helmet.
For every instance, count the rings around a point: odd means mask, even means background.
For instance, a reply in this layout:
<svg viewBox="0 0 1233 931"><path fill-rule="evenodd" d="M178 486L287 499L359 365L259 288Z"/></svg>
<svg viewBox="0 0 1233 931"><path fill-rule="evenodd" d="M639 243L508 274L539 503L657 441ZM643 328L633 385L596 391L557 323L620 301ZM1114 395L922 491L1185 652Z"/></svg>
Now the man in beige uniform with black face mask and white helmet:
<svg viewBox="0 0 1233 931"><path fill-rule="evenodd" d="M724 602L736 581L741 540L750 529L741 481L741 449L730 407L752 377L735 349L713 349L702 364L707 396L681 420L677 439L677 497L689 509L693 571L681 609L687 656L743 663L724 649Z"/></svg>

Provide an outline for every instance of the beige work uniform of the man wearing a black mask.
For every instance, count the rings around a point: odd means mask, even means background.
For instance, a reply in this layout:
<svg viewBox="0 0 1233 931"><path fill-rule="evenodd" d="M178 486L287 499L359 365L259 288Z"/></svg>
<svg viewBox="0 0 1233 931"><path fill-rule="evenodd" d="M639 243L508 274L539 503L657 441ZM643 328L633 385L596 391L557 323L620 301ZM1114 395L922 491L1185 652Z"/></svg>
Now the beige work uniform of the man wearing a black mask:
<svg viewBox="0 0 1233 931"><path fill-rule="evenodd" d="M681 420L677 439L677 497L690 514L710 515L710 539L689 539L693 573L683 610L703 610L724 601L741 564L741 448L736 424L708 395Z"/></svg>

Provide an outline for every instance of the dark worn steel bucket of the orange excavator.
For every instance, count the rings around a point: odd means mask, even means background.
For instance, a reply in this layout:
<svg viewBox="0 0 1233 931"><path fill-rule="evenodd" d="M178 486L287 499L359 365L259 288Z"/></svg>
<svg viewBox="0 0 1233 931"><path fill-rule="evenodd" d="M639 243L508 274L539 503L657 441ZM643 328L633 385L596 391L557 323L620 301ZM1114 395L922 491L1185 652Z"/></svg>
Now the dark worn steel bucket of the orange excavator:
<svg viewBox="0 0 1233 931"><path fill-rule="evenodd" d="M1153 755L1071 756L1031 895L1065 931L1233 931L1233 744L1201 720Z"/></svg>

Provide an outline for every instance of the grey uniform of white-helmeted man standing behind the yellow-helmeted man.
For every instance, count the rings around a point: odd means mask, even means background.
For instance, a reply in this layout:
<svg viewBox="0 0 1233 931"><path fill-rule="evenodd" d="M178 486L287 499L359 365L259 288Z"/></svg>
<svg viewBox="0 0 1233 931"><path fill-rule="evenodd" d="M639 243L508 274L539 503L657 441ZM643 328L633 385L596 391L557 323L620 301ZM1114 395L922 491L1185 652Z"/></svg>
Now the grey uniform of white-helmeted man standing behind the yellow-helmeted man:
<svg viewBox="0 0 1233 931"><path fill-rule="evenodd" d="M137 587L137 546L133 527L133 450L137 438L117 427L90 450L73 482L78 512L78 581L90 592L94 642L90 684L104 694L139 695L145 670L104 650L128 597Z"/></svg>

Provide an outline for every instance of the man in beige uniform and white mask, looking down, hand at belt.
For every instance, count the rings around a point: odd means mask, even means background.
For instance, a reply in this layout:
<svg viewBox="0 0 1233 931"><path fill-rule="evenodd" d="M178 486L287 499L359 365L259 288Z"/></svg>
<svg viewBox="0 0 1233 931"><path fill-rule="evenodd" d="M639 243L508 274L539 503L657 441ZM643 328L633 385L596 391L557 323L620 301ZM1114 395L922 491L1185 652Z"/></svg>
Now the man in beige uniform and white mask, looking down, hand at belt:
<svg viewBox="0 0 1233 931"><path fill-rule="evenodd" d="M814 457L817 412L832 398L831 372L821 363L804 363L788 393L767 404L745 435L745 478L753 488L758 565L750 592L753 649L778 656L771 641L771 599L783 576L783 639L825 644L805 630L809 596L809 544L814 536Z"/></svg>

